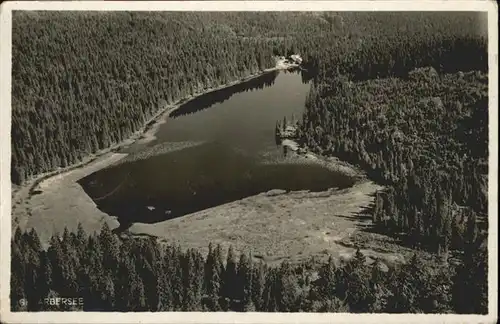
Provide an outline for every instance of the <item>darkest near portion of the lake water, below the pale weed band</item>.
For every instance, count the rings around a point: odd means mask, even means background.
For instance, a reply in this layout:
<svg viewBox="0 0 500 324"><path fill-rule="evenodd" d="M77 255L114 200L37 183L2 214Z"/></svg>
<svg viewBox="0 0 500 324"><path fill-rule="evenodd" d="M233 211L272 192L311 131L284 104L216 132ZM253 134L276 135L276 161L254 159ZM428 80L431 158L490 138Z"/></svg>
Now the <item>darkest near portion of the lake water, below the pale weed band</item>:
<svg viewBox="0 0 500 324"><path fill-rule="evenodd" d="M123 228L183 216L272 189L323 191L353 180L317 164L261 163L222 143L206 143L121 164L79 181Z"/></svg>

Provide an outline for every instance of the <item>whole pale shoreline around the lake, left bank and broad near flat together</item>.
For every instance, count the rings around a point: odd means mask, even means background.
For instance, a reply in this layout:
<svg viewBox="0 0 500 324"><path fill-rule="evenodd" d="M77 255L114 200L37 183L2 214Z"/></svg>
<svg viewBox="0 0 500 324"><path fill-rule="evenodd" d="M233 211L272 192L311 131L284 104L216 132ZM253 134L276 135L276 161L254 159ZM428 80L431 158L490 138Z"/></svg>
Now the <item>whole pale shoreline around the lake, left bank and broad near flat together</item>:
<svg viewBox="0 0 500 324"><path fill-rule="evenodd" d="M121 148L153 140L158 127L183 103L281 69L266 69L183 98L174 105L165 106L139 131L124 141L90 155L87 160L68 168L42 175L21 187L16 197L18 200L21 198L21 202L15 204L13 200L12 204L12 226L19 226L23 230L36 228L44 248L48 246L52 235L62 233L64 228L75 231L78 224L89 233L98 233L103 223L107 223L111 229L118 228L120 224L117 217L99 210L77 183L79 179L131 156L132 153L120 152ZM287 146L287 142L282 144ZM181 240L186 246L202 250L208 246L209 241L222 243L226 247L234 245L242 250L246 248L246 243L253 244L256 252L262 255L266 262L282 257L299 260L311 255L322 256L326 250L337 254L337 257L350 255L353 253L352 249L341 246L340 240L349 239L347 234L356 231L356 215L373 202L373 193L381 189L380 186L366 179L364 173L353 165L336 158L316 155L304 148L304 154L296 152L293 148L300 146L295 141L290 141L288 147L293 151L290 157L295 162L321 164L353 177L353 186L341 190L330 188L322 192L271 190L172 220L154 224L133 223L127 234L132 237L156 237L165 242L170 241L175 236L174 233L179 231L192 232L193 235L186 234L185 239L177 237L175 240ZM332 210L333 207L335 208ZM344 218L346 216L347 218ZM265 225L269 221L272 226ZM198 226L202 224L206 226ZM241 231L240 227L244 227L246 231ZM263 232L269 234L266 235L267 239L262 237ZM283 244L269 237L282 237Z"/></svg>

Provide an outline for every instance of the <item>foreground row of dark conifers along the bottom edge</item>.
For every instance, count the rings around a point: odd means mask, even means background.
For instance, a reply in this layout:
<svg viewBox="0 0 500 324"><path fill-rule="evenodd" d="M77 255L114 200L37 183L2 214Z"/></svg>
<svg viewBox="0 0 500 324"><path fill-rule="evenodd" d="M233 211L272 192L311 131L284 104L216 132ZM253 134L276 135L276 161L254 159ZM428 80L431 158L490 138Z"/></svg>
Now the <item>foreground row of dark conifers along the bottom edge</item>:
<svg viewBox="0 0 500 324"><path fill-rule="evenodd" d="M153 238L120 240L104 224L99 234L64 231L41 248L36 230L12 238L13 311L236 311L487 313L484 255L474 253L477 228L468 223L463 265L407 264L383 269L358 250L348 261L270 267L252 255L209 246L193 249ZM51 306L46 297L82 298ZM19 301L24 299L26 303Z"/></svg>

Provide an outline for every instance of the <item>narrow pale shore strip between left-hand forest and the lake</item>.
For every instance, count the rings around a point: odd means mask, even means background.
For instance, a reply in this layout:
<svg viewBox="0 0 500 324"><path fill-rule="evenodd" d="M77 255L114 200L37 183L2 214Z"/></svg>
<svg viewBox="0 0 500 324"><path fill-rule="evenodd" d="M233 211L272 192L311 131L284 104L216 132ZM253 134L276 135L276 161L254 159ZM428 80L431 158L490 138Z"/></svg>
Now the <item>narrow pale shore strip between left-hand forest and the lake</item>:
<svg viewBox="0 0 500 324"><path fill-rule="evenodd" d="M179 109L183 104L196 99L200 96L203 96L205 94L214 92L214 91L219 91L225 88L232 87L234 85L244 83L247 81L250 81L252 79L255 79L259 76L262 76L266 73L270 73L273 71L279 71L279 70L284 70L288 68L295 67L294 65L277 65L275 67L271 67L268 69L261 70L257 73L245 76L243 78L240 78L238 80L220 85L218 87L212 87L203 90L202 92L195 93L193 95L190 95L188 97L181 98L177 101L175 101L173 104L166 105L164 108L160 108L159 111L157 111L152 117L150 117L146 122L143 124L141 128L139 128L137 131L132 133L129 137L123 139L122 141L113 144L110 147L107 147L105 149L99 150L95 153L89 154L86 157L84 157L81 161L76 162L74 164L71 164L69 166L63 167L63 168L58 168L56 170L46 172L39 174L32 179L29 179L25 183L21 185L12 185L12 192L11 192L11 215L14 209L16 208L16 205L20 204L26 199L29 199L36 191L37 188L40 187L42 182L49 180L52 177L55 176L61 176L65 173L69 173L74 170L82 169L90 164L97 162L100 158L105 158L106 155L110 153L117 153L119 150L123 148L127 148L133 144L136 143L148 143L152 140L155 139L154 134L158 130L158 128L166 121L166 118L174 112L175 110ZM120 153L122 154L122 158L126 157L128 154L127 153ZM116 161L115 161L116 162ZM110 164L105 164L102 168L108 167Z"/></svg>

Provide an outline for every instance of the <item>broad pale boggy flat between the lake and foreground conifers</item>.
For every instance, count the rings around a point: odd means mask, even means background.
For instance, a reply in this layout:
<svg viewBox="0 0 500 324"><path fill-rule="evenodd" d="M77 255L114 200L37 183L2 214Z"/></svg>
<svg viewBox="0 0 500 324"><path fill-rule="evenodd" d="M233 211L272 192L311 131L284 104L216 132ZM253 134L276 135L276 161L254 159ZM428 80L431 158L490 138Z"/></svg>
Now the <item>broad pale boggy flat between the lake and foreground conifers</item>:
<svg viewBox="0 0 500 324"><path fill-rule="evenodd" d="M130 236L154 236L165 243L207 252L208 244L233 246L268 264L297 262L311 256L349 258L355 247L342 244L360 229L359 213L369 207L381 187L364 181L343 190L286 193L272 190L238 201L154 224L134 223ZM404 256L371 249L373 258L402 260Z"/></svg>

